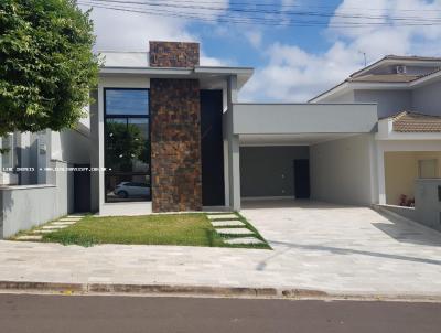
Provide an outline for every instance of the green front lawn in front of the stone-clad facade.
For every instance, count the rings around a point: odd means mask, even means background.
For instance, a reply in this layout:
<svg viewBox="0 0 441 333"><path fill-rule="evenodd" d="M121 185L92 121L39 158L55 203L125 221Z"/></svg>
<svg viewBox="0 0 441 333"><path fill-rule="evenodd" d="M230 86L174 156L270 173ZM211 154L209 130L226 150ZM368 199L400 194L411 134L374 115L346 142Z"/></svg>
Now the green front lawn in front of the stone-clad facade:
<svg viewBox="0 0 441 333"><path fill-rule="evenodd" d="M86 216L75 225L45 234L42 240L82 246L146 244L269 248L268 245L230 246L224 244L206 215L201 213L111 217Z"/></svg>

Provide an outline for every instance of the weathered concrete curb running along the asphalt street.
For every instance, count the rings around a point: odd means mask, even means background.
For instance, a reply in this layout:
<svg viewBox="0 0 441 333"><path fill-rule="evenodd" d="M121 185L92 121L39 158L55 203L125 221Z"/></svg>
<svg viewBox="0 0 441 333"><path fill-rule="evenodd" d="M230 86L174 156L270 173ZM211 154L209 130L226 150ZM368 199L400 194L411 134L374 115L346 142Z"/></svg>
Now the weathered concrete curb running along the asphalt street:
<svg viewBox="0 0 441 333"><path fill-rule="evenodd" d="M114 296L187 296L236 297L291 300L359 300L359 301L421 301L441 302L441 294L406 294L372 292L325 292L313 289L247 288L173 284L122 283L61 283L34 281L0 281L0 292L33 292L60 294L114 294Z"/></svg>

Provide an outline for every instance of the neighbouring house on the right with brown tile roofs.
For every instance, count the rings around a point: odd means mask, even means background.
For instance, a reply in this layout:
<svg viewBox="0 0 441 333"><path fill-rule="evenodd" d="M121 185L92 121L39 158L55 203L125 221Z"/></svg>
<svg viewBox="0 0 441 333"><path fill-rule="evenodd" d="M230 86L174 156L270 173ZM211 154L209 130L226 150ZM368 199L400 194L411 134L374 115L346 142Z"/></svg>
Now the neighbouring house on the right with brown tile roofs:
<svg viewBox="0 0 441 333"><path fill-rule="evenodd" d="M417 210L391 208L439 229L440 93L440 57L389 55L311 100L377 104L376 202L394 206L415 201Z"/></svg>

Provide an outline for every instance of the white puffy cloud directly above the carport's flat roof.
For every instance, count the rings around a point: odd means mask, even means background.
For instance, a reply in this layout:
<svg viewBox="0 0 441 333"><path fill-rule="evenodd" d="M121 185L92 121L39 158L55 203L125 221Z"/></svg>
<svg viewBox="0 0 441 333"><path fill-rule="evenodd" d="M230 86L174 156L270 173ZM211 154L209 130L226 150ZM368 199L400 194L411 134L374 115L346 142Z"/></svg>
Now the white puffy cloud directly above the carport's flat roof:
<svg viewBox="0 0 441 333"><path fill-rule="evenodd" d="M243 100L308 100L342 80L345 73L357 69L362 60L357 52L348 52L341 42L321 55L276 43L268 50L268 56L269 64L257 69L246 85L240 95Z"/></svg>

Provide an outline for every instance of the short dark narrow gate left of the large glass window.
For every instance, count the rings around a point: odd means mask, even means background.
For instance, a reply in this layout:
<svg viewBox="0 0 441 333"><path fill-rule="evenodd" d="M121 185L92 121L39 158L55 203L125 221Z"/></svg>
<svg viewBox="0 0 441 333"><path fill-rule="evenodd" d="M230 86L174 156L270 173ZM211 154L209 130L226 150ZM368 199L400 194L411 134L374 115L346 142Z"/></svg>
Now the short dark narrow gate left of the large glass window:
<svg viewBox="0 0 441 333"><path fill-rule="evenodd" d="M74 211L90 212L90 164L75 164L75 168L87 170L74 171Z"/></svg>

